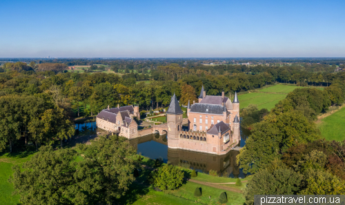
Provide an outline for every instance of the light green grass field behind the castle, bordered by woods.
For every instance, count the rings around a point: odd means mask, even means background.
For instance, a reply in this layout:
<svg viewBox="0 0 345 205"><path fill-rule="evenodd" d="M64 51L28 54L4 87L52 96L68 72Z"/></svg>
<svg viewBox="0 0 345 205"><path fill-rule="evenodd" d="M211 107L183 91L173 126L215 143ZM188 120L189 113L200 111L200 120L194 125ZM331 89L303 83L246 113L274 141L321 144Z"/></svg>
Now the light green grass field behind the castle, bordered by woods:
<svg viewBox="0 0 345 205"><path fill-rule="evenodd" d="M256 104L259 109L266 108L270 110L275 107L280 100L284 99L289 92L292 92L297 87L293 85L275 85L268 88L263 88L261 90L256 90L255 92L245 93L243 95L239 94L239 108L246 108L250 104ZM323 90L324 88L315 87L317 89Z"/></svg>

